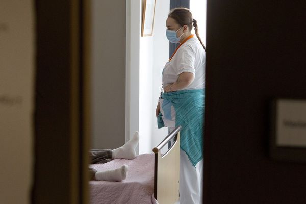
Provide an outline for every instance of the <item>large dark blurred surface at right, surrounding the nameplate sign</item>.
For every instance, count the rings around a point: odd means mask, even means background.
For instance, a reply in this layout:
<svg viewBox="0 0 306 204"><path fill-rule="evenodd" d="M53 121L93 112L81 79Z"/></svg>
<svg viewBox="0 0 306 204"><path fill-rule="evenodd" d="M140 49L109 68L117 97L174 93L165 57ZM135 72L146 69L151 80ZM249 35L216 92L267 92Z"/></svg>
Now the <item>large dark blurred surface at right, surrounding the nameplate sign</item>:
<svg viewBox="0 0 306 204"><path fill-rule="evenodd" d="M208 0L205 203L306 203L306 164L269 158L269 101L306 98L305 11Z"/></svg>

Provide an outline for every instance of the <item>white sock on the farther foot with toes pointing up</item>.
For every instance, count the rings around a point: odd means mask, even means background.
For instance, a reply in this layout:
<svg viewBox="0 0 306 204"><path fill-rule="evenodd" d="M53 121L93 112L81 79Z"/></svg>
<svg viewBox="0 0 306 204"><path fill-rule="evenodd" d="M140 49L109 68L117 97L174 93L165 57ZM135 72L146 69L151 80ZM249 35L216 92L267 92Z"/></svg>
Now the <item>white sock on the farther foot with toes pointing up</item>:
<svg viewBox="0 0 306 204"><path fill-rule="evenodd" d="M134 159L136 157L135 148L139 143L139 133L136 131L134 136L123 146L113 149L113 159Z"/></svg>

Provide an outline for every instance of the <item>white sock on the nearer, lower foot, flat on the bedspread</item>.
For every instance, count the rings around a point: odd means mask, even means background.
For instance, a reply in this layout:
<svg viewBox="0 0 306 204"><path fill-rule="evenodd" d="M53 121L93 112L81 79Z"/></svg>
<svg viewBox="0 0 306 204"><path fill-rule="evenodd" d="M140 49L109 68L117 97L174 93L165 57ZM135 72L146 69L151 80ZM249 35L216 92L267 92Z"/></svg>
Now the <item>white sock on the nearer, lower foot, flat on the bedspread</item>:
<svg viewBox="0 0 306 204"><path fill-rule="evenodd" d="M121 182L126 178L126 173L127 173L127 166L123 164L123 166L114 170L96 172L95 180Z"/></svg>

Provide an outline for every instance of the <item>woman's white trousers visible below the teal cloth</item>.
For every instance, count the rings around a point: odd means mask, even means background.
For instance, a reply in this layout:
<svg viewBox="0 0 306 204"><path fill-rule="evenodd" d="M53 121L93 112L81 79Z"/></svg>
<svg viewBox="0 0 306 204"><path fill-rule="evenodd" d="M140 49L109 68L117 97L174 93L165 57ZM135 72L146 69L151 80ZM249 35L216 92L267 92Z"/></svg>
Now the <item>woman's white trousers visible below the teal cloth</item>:
<svg viewBox="0 0 306 204"><path fill-rule="evenodd" d="M174 127L170 127L170 132ZM203 159L192 166L187 154L180 150L180 202L175 204L202 204Z"/></svg>

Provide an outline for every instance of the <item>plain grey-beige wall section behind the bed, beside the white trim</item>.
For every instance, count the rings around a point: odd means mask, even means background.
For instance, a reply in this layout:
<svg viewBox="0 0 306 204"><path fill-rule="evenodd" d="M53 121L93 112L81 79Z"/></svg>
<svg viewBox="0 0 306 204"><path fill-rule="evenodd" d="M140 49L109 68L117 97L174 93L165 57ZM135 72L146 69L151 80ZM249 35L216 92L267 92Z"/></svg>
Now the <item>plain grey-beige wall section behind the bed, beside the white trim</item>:
<svg viewBox="0 0 306 204"><path fill-rule="evenodd" d="M125 143L125 1L92 1L92 148Z"/></svg>

